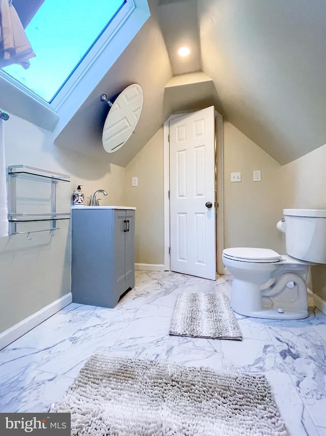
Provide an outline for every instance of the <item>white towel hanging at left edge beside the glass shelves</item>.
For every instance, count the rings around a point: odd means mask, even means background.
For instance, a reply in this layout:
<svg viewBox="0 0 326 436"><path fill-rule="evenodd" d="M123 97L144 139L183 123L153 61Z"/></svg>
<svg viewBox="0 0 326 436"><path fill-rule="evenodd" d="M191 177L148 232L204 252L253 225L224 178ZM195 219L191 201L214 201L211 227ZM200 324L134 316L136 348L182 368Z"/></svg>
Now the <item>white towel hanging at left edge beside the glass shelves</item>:
<svg viewBox="0 0 326 436"><path fill-rule="evenodd" d="M0 236L8 236L8 203L4 120L0 119Z"/></svg>

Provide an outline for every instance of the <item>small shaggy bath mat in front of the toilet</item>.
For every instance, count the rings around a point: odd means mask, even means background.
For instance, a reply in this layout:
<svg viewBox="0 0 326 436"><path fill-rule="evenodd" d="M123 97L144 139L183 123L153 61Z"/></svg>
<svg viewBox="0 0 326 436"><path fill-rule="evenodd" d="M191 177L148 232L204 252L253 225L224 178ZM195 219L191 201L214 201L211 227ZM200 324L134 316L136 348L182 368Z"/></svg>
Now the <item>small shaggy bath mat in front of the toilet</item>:
<svg viewBox="0 0 326 436"><path fill-rule="evenodd" d="M179 294L172 314L170 334L242 340L230 300L225 294Z"/></svg>

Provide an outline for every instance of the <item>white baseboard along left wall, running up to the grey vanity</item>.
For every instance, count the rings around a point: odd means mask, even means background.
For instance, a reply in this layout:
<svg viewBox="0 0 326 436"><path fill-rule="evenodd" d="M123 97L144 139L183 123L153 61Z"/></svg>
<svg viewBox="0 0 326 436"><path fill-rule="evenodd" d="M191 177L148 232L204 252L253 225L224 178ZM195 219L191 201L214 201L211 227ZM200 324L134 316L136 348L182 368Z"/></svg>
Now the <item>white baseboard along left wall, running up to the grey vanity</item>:
<svg viewBox="0 0 326 436"><path fill-rule="evenodd" d="M53 301L53 303L49 304L43 309L39 310L36 313L33 313L30 317L20 321L20 323L15 324L10 327L8 330L5 330L3 333L0 333L0 350L12 342L16 341L18 337L32 330L32 328L41 324L43 321L50 318L53 314L61 310L63 307L67 306L72 302L72 294L64 295L59 298L59 300Z"/></svg>

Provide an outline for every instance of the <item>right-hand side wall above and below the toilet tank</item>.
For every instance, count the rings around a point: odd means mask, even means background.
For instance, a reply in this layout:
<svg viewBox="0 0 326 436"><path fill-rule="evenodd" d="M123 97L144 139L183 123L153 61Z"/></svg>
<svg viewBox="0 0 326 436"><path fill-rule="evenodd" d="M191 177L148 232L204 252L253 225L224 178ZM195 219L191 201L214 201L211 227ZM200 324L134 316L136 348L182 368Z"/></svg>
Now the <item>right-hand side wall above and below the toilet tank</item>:
<svg viewBox="0 0 326 436"><path fill-rule="evenodd" d="M282 167L284 208L326 209L326 144ZM311 268L311 287L326 301L326 265Z"/></svg>

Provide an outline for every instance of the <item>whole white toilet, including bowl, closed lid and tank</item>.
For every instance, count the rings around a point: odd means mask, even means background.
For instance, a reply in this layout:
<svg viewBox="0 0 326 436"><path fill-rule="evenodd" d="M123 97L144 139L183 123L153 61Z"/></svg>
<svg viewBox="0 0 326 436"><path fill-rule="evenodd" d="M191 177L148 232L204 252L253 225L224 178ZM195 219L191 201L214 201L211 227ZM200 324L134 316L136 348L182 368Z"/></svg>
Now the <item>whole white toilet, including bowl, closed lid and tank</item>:
<svg viewBox="0 0 326 436"><path fill-rule="evenodd" d="M326 210L284 209L287 255L263 248L228 248L223 263L232 274L231 307L255 318L308 317L307 274L326 263Z"/></svg>

